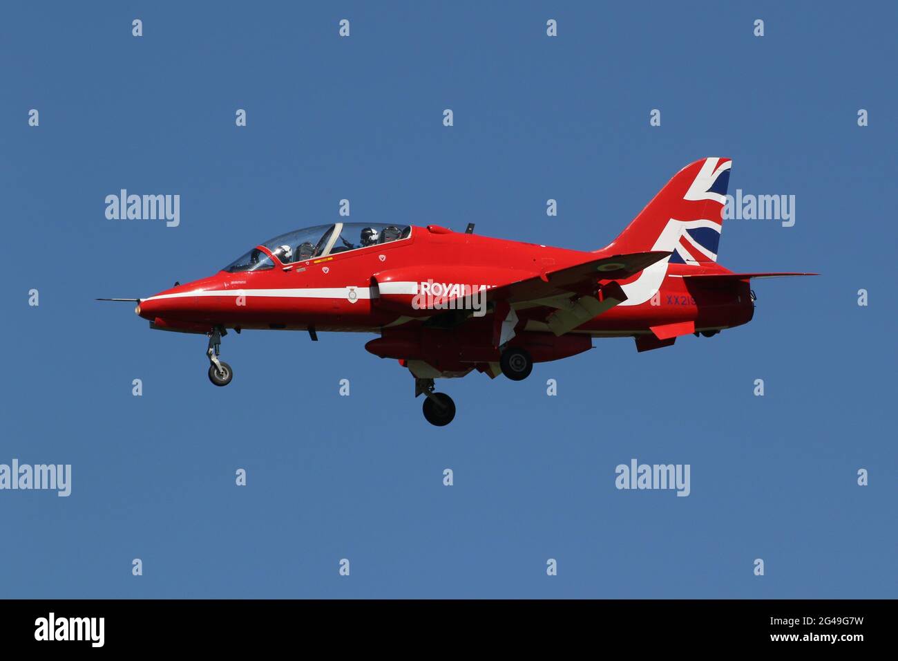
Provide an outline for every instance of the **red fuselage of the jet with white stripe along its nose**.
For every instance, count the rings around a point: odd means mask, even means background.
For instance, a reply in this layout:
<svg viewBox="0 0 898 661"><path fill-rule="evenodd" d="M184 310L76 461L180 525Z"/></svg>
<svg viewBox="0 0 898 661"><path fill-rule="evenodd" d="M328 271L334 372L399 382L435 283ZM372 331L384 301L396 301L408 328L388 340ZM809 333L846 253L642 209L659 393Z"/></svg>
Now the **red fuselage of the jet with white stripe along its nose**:
<svg viewBox="0 0 898 661"><path fill-rule="evenodd" d="M260 246L266 254L270 251ZM212 326L251 329L314 328L319 331L381 333L383 328L414 323L433 310L402 308L401 300L380 296L384 281L462 283L488 288L539 276L542 272L613 255L481 237L444 228L412 228L409 237L336 255L283 264L252 272L218 272L144 299L141 317L172 330L207 332ZM650 326L692 321L696 331L739 326L752 318L747 281L725 288L689 286L682 275L726 273L717 264L664 264L660 288L652 299L622 304L578 326L574 333L593 336L640 335ZM628 283L638 281L638 273ZM632 297L631 297L632 298ZM628 301L629 302L629 301ZM517 311L519 332L547 330L547 308Z"/></svg>

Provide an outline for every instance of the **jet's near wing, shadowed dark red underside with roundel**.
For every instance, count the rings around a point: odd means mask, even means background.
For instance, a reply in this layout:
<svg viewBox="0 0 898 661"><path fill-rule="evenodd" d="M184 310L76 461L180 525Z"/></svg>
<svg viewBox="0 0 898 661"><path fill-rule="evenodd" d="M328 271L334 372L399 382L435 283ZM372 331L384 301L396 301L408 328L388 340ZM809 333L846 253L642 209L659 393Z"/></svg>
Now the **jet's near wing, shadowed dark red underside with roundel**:
<svg viewBox="0 0 898 661"><path fill-rule="evenodd" d="M487 290L487 300L515 304L559 296L567 298L572 294L592 294L599 280L629 278L670 255L671 253L667 252L652 252L594 259L494 287Z"/></svg>

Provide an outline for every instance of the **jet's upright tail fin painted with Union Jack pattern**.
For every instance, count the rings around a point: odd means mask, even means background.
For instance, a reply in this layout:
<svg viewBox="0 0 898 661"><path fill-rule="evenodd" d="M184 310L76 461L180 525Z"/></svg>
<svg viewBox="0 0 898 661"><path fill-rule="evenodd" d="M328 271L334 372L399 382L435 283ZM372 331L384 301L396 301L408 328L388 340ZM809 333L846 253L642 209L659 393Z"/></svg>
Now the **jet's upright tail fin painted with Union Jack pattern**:
<svg viewBox="0 0 898 661"><path fill-rule="evenodd" d="M717 156L686 165L603 250L670 252L671 264L717 262L730 165Z"/></svg>

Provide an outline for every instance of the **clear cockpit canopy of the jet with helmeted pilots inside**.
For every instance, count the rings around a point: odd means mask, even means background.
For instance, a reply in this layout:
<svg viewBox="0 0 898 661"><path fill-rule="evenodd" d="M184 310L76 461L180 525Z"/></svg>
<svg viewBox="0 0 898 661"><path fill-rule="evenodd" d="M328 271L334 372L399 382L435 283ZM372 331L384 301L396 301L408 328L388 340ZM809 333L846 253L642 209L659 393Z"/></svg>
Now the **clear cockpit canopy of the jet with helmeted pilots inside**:
<svg viewBox="0 0 898 661"><path fill-rule="evenodd" d="M225 266L225 271L235 273L273 269L275 261L272 256L281 264L293 264L399 241L408 238L410 233L409 225L376 223L333 223L296 229L254 247Z"/></svg>

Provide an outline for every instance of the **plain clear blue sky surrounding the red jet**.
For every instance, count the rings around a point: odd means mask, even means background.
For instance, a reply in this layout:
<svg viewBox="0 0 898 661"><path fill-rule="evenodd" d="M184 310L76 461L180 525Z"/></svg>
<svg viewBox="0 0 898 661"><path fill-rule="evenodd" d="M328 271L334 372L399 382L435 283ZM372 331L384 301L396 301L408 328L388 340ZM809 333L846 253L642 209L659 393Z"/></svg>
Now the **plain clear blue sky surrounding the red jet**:
<svg viewBox="0 0 898 661"><path fill-rule="evenodd" d="M885 3L4 4L0 463L70 463L73 485L0 491L0 594L895 597L896 19ZM731 192L797 200L792 228L727 220L721 264L823 275L755 282L751 324L710 339L596 340L520 383L440 382L459 409L445 428L369 336L228 335L235 377L216 389L204 337L93 300L211 274L343 198L357 222L596 249L701 156L733 158ZM180 194L180 226L106 219L121 188ZM632 458L691 464L691 496L615 489Z"/></svg>

